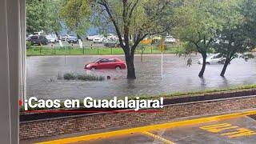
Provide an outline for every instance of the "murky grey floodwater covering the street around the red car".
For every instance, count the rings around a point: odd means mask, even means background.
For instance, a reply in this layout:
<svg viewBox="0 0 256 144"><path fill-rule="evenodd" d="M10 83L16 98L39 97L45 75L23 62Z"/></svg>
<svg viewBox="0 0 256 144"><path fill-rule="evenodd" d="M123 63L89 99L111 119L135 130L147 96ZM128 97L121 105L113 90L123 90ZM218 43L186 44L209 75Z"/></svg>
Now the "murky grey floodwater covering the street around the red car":
<svg viewBox="0 0 256 144"><path fill-rule="evenodd" d="M193 65L186 66L186 58L164 55L161 79L161 55L135 56L136 80L126 79L126 70L84 70L86 63L101 56L27 57L27 97L37 98L111 98L113 96L157 95L192 90L217 89L256 83L256 59L248 62L234 59L226 70L226 78L219 76L222 65L206 66L204 78L198 78L200 55L193 56ZM104 56L103 56L104 57ZM118 56L124 59L123 56ZM97 74L110 76L103 82L58 80L58 74Z"/></svg>

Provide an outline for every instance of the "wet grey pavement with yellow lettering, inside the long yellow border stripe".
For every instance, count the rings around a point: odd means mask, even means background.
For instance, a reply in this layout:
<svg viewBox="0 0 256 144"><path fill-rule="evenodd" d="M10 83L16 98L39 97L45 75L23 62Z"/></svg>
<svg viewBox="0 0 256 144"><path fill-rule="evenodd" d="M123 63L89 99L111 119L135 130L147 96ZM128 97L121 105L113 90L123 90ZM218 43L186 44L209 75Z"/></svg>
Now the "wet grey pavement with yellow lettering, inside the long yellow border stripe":
<svg viewBox="0 0 256 144"><path fill-rule="evenodd" d="M256 121L252 118L241 117L228 120L206 122L193 126L182 126L173 129L145 131L142 133L126 134L112 138L98 138L76 144L254 144L256 143Z"/></svg>

